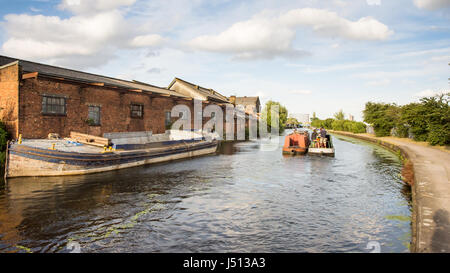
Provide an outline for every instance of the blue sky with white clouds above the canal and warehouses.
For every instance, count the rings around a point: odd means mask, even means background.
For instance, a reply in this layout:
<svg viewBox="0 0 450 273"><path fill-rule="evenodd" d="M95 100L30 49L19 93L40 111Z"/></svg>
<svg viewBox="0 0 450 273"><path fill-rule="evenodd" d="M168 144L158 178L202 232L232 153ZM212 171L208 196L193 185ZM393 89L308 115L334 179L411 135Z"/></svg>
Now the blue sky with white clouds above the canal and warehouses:
<svg viewBox="0 0 450 273"><path fill-rule="evenodd" d="M0 0L0 55L362 120L449 92L450 0Z"/></svg>

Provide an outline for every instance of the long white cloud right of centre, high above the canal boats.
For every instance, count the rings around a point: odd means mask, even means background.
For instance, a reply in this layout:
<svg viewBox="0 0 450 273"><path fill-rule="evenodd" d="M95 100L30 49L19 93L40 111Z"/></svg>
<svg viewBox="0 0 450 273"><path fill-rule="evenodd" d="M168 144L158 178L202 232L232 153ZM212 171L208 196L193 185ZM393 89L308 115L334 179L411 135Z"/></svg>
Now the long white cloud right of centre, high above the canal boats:
<svg viewBox="0 0 450 273"><path fill-rule="evenodd" d="M294 9L281 16L261 13L233 24L216 35L203 35L188 42L197 50L231 53L237 59L308 55L292 46L299 27L311 27L320 35L351 40L385 40L393 31L371 17L350 21L322 9Z"/></svg>

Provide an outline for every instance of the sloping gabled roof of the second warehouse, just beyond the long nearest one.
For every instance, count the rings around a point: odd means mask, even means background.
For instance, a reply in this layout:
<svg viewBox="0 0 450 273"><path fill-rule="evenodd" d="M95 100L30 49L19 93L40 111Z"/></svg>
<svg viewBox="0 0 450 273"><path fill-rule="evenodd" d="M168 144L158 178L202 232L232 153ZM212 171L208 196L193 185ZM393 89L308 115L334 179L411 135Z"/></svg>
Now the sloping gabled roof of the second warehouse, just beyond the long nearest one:
<svg viewBox="0 0 450 273"><path fill-rule="evenodd" d="M220 94L214 89L201 87L180 78L173 79L168 86L168 89L197 100L210 101L214 103L230 103L226 96Z"/></svg>

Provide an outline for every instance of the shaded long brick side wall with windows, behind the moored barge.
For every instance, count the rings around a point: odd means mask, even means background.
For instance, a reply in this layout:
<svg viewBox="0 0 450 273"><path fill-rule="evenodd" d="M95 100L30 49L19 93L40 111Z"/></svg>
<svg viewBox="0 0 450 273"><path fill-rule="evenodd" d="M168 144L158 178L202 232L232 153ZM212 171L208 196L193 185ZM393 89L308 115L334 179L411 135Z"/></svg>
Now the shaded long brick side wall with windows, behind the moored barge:
<svg viewBox="0 0 450 273"><path fill-rule="evenodd" d="M43 94L66 96L67 115L43 115ZM131 118L132 102L144 105L142 119ZM176 101L173 97L151 97L145 93L85 87L44 78L27 79L20 87L19 131L24 138L46 138L49 133L67 137L71 131L98 136L126 131L153 131L154 134L159 134L165 132L165 112L181 103L190 106L193 113L191 101ZM86 123L88 105L101 107L101 126L89 126Z"/></svg>

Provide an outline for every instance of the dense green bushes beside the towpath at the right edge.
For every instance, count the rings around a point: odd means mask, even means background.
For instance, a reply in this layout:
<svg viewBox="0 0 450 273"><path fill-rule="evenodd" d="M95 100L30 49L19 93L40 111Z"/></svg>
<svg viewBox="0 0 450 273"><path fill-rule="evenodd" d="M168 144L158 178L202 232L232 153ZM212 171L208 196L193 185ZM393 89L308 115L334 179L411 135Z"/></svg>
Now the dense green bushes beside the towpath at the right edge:
<svg viewBox="0 0 450 273"><path fill-rule="evenodd" d="M364 121L373 125L376 136L389 136L393 131L398 137L408 137L411 133L416 141L449 145L449 96L450 93L426 97L404 106L368 102Z"/></svg>

